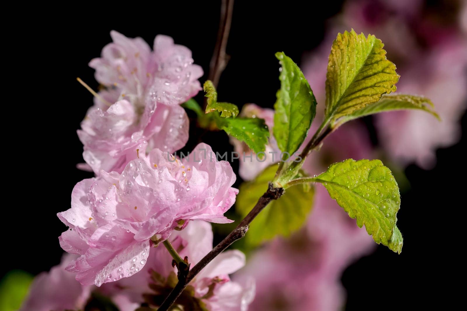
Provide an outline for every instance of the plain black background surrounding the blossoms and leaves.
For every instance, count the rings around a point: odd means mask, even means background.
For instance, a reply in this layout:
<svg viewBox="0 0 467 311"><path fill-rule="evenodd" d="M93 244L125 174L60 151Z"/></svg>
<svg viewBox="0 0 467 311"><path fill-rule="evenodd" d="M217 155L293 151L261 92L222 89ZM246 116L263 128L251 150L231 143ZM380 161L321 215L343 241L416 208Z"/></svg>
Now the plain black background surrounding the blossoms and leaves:
<svg viewBox="0 0 467 311"><path fill-rule="evenodd" d="M300 64L303 53L322 40L325 20L340 11L341 2L320 1L319 6L251 2L235 4L227 46L231 60L218 91L220 99L239 106L253 102L272 107L279 88L274 53L283 50ZM202 3L134 2L113 8L60 8L57 13L47 7L37 7L34 12L29 7L31 11L19 17L18 23L28 25L15 30L21 48L14 48L8 39L4 49L15 77L9 84L13 87L7 90L10 99L4 97L3 103L7 145L3 147L6 175L2 194L7 214L1 235L6 245L2 275L9 269L37 274L60 261L57 238L66 227L56 213L70 207L74 184L91 176L75 168L83 161L76 130L92 104L92 95L76 77L97 89L94 71L87 63L99 57L110 42L110 30L142 36L151 46L156 34L172 36L193 51L195 63L205 71L200 79L204 81L220 6L217 1ZM19 53L14 54L17 49ZM198 95L198 101L201 98ZM11 122L19 123L20 129L8 125ZM462 124L465 133L465 116ZM464 246L460 230L466 204L460 196L465 195L465 136L457 145L437 152L438 164L433 170L415 165L406 169L411 189L403 194L398 214L403 252L397 255L380 246L345 271L347 310L446 307L456 297L449 280L460 277L458 256ZM222 133L207 135L204 140L214 150L232 148Z"/></svg>

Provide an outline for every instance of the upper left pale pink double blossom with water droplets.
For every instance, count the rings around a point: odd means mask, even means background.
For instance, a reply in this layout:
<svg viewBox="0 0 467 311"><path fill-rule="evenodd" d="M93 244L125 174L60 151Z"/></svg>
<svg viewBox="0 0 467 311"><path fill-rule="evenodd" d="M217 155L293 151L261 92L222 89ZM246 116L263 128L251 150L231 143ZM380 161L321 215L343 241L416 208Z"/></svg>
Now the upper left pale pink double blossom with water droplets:
<svg viewBox="0 0 467 311"><path fill-rule="evenodd" d="M89 65L106 91L94 100L78 130L83 157L92 170L121 172L134 159L134 147L173 152L188 140L188 117L182 107L201 90L201 67L191 51L172 38L156 36L154 51L141 38L111 32L112 43ZM128 152L131 150L131 155Z"/></svg>

